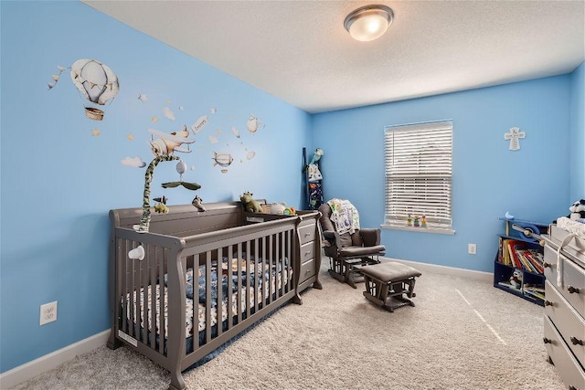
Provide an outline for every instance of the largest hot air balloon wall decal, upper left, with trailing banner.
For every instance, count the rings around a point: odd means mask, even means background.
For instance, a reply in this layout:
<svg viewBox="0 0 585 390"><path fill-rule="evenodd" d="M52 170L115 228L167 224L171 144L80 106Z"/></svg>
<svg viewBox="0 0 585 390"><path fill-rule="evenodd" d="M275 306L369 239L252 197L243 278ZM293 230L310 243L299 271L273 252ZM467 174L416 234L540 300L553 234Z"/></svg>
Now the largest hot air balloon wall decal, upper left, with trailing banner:
<svg viewBox="0 0 585 390"><path fill-rule="evenodd" d="M70 69L71 80L79 90L81 98L87 100L84 104L85 115L93 121L101 121L104 106L116 97L120 91L120 82L116 74L107 65L97 59L78 59L70 68L58 67L58 75L53 75L52 82L48 83L51 90L58 82L61 73Z"/></svg>

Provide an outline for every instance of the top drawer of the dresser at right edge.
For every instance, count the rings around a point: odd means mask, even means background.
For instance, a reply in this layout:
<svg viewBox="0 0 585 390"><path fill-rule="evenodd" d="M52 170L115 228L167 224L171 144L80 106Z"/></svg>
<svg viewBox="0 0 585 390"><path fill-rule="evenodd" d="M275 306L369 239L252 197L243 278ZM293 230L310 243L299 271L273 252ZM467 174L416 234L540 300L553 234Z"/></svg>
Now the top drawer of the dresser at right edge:
<svg viewBox="0 0 585 390"><path fill-rule="evenodd" d="M557 252L545 246L545 262L551 266L545 269L547 280L569 301L569 304L585 317L585 269L570 261L562 254L563 279L562 285L557 285ZM584 364L585 365L585 364Z"/></svg>

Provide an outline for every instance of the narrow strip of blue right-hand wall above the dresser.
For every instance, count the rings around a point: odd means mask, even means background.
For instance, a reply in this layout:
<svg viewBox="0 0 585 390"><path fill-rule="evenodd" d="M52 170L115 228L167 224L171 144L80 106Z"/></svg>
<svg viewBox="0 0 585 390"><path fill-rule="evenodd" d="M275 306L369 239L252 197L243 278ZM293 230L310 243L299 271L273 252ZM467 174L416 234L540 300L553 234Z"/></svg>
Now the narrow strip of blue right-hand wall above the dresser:
<svg viewBox="0 0 585 390"><path fill-rule="evenodd" d="M585 62L571 73L570 204L585 199Z"/></svg>

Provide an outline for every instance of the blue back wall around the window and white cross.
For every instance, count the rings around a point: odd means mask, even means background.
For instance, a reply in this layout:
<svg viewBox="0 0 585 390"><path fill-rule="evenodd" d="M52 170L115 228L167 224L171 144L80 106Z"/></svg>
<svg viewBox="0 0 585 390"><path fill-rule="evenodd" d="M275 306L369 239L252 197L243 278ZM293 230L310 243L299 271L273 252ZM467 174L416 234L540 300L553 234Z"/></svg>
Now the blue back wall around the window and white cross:
<svg viewBox="0 0 585 390"><path fill-rule="evenodd" d="M363 227L384 220L385 125L453 121L454 235L382 230L387 256L463 269L493 270L506 211L548 223L569 213L570 76L468 90L314 115L324 149L324 196L348 198ZM504 133L526 132L508 150ZM477 244L477 255L467 244Z"/></svg>

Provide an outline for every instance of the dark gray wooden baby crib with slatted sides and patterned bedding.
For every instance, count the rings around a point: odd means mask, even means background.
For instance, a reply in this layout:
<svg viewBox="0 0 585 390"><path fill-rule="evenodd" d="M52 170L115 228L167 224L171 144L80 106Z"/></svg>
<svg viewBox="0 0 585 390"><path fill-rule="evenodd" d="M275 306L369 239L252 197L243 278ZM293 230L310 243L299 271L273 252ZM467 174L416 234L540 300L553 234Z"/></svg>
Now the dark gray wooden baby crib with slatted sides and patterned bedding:
<svg viewBox="0 0 585 390"><path fill-rule="evenodd" d="M302 304L307 287L321 289L319 212L171 206L139 233L133 226L142 213L110 211L108 347L143 353L170 372L172 389L186 388L181 373L208 353L282 304ZM130 258L139 246L143 256Z"/></svg>

